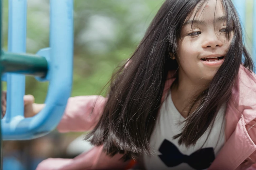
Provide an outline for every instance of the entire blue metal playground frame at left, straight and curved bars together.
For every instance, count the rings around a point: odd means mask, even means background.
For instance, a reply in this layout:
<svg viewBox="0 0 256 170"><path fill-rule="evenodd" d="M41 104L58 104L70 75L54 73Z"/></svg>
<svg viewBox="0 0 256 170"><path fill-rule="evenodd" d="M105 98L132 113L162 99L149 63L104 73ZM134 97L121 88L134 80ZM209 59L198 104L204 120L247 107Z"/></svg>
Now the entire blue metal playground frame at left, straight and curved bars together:
<svg viewBox="0 0 256 170"><path fill-rule="evenodd" d="M10 52L26 52L26 0L9 0ZM1 120L3 140L27 140L48 134L61 120L72 89L73 0L50 0L50 49L45 56L49 80L45 108L32 118L24 118L25 76L7 74L7 113ZM42 80L42 79L38 79Z"/></svg>

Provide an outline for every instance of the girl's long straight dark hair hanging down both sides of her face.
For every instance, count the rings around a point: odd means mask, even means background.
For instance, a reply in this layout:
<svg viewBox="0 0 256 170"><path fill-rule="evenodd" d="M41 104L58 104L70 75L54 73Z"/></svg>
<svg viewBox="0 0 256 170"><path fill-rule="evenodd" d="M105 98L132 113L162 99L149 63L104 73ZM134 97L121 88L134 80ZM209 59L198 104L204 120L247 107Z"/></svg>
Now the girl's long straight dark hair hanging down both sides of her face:
<svg viewBox="0 0 256 170"><path fill-rule="evenodd" d="M86 136L93 145L104 145L108 155L124 154L134 158L151 154L149 140L158 119L164 83L168 71L177 70L176 54L180 31L184 21L196 8L197 12L207 0L166 0L148 27L144 38L124 65L113 74L108 100L96 127ZM236 81L242 54L243 65L253 69L252 60L243 45L242 28L231 0L221 0L227 17L227 38L230 47L224 63L215 74L209 87L195 99L199 105L186 118L186 125L179 144L195 145L196 141L212 128L214 119L223 103L231 95Z"/></svg>

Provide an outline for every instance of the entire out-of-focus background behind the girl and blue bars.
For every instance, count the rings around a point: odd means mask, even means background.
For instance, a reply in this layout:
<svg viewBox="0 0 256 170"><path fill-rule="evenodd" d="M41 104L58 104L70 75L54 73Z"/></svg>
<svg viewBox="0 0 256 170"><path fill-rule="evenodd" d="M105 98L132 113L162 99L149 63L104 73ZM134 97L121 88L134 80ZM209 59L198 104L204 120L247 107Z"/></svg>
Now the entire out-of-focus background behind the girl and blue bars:
<svg viewBox="0 0 256 170"><path fill-rule="evenodd" d="M27 0L27 53L49 46L49 0ZM100 94L118 64L128 59L164 0L74 0L74 76L72 96ZM3 0L7 50L8 0ZM251 50L252 3L246 0L246 46ZM60 61L61 62L61 61ZM48 83L26 78L26 94L44 103ZM4 89L6 84L4 84ZM104 94L101 94L104 95ZM86 133L86 132L85 132ZM52 157L74 158L90 148L82 133L57 131L29 141L4 141L4 170L35 170Z"/></svg>

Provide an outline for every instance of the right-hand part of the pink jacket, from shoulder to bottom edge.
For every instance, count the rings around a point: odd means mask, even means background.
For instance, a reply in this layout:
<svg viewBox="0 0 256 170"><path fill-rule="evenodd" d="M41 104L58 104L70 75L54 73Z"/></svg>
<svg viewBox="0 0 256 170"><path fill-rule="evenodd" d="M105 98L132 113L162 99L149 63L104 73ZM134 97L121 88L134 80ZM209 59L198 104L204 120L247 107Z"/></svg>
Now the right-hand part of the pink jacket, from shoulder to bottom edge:
<svg viewBox="0 0 256 170"><path fill-rule="evenodd" d="M241 65L226 111L226 143L209 169L236 169L250 158L256 150L252 140L256 141L256 135L250 136L246 126L255 119L256 76Z"/></svg>

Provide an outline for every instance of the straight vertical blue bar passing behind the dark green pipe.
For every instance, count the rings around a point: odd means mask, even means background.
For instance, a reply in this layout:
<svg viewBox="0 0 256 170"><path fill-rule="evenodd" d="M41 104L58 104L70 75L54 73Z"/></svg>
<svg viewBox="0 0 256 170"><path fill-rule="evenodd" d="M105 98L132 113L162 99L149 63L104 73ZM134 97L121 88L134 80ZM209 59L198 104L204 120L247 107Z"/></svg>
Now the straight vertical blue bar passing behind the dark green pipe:
<svg viewBox="0 0 256 170"><path fill-rule="evenodd" d="M26 52L26 0L9 0L8 22L8 51L15 53ZM7 113L6 122L12 118L24 116L23 96L25 94L25 76L18 74L7 75Z"/></svg>

